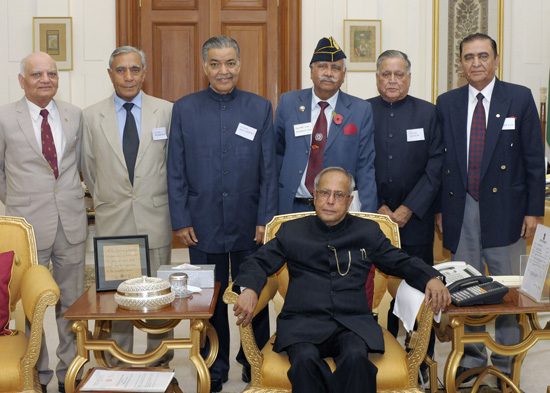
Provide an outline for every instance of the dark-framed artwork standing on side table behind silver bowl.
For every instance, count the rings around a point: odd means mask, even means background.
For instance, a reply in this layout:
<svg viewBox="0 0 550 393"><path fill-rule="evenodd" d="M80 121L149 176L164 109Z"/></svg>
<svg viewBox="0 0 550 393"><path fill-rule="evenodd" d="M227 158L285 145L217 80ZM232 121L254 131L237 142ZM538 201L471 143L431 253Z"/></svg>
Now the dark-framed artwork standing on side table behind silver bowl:
<svg viewBox="0 0 550 393"><path fill-rule="evenodd" d="M147 235L94 237L96 291L116 291L131 278L151 275Z"/></svg>

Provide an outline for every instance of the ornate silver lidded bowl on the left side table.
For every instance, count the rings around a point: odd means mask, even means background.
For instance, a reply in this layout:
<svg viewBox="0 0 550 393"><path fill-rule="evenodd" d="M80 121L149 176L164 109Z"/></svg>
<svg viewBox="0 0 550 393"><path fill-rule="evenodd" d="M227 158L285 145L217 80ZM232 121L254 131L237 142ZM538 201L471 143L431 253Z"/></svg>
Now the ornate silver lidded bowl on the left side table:
<svg viewBox="0 0 550 393"><path fill-rule="evenodd" d="M142 276L122 282L115 293L115 302L124 310L159 310L174 300L170 283L162 278Z"/></svg>

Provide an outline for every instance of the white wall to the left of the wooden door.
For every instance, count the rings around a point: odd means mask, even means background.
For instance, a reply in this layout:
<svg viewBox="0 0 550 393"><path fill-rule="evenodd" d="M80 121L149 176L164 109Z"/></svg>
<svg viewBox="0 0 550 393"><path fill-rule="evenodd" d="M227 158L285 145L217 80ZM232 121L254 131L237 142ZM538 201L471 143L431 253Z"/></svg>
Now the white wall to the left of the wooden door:
<svg viewBox="0 0 550 393"><path fill-rule="evenodd" d="M114 0L0 0L0 105L19 100L17 74L23 57L33 51L32 18L72 17L73 70L59 72L56 98L84 108L112 92L107 75L115 48Z"/></svg>

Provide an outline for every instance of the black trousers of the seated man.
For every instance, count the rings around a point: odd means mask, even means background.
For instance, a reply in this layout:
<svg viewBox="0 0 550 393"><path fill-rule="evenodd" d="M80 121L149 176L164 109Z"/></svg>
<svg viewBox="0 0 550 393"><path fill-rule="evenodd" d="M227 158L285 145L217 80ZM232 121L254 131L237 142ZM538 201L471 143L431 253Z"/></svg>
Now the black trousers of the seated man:
<svg viewBox="0 0 550 393"><path fill-rule="evenodd" d="M378 369L368 358L365 341L345 326L323 343L287 347L288 378L293 393L375 393ZM332 357L334 373L323 360Z"/></svg>

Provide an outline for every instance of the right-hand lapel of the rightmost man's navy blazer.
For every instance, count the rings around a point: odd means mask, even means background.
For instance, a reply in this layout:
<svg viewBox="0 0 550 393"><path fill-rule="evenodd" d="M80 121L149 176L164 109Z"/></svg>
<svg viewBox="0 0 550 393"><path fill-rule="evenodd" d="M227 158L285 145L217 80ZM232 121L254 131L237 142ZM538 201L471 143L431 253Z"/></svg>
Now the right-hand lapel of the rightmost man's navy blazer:
<svg viewBox="0 0 550 393"><path fill-rule="evenodd" d="M483 147L483 161L481 162L480 180L487 172L496 145L502 132L504 120L508 114L512 99L504 92L504 86L497 79L493 94L491 95L491 105L489 106L489 117L487 121L487 130L485 131L485 145Z"/></svg>

